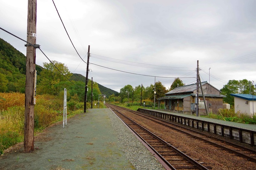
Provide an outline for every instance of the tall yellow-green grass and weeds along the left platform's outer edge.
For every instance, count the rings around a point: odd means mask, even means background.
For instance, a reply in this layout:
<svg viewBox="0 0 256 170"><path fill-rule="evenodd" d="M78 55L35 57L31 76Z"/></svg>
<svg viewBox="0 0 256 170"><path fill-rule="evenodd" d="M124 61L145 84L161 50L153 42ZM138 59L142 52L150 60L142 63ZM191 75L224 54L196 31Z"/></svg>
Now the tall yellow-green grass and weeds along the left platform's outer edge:
<svg viewBox="0 0 256 170"><path fill-rule="evenodd" d="M67 117L82 113L83 104L70 102ZM69 105L68 105L69 108ZM63 97L37 95L34 111L34 132L63 120ZM24 140L25 94L0 93L0 155L3 151Z"/></svg>

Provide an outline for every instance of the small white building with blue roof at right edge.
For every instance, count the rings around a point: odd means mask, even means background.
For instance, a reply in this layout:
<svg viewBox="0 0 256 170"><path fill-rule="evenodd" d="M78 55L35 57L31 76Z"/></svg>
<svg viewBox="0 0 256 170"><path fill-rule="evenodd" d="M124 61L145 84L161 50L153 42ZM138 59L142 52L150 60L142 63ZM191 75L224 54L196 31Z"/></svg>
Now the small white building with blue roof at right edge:
<svg viewBox="0 0 256 170"><path fill-rule="evenodd" d="M249 94L230 94L234 96L235 112L241 112L253 116L256 112L256 96Z"/></svg>

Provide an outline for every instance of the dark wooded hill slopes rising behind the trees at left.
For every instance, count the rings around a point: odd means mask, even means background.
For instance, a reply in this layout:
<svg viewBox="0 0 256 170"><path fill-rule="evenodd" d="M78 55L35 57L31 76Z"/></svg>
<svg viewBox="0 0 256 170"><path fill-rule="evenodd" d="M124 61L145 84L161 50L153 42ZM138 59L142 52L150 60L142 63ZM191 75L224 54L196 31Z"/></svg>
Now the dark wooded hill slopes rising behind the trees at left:
<svg viewBox="0 0 256 170"><path fill-rule="evenodd" d="M37 75L44 68L36 65ZM12 45L0 38L0 92L25 92L26 56ZM85 76L73 74L70 80L85 83ZM40 80L39 82L40 83ZM99 85L99 84L98 84ZM89 86L89 85L88 85ZM99 90L107 96L118 95L118 92L99 85Z"/></svg>

